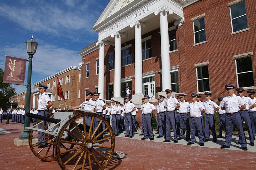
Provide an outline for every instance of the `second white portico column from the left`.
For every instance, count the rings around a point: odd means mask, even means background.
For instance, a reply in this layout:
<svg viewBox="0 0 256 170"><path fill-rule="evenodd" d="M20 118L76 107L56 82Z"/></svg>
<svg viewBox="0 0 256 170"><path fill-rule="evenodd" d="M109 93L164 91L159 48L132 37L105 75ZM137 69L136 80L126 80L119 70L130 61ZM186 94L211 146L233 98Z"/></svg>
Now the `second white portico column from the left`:
<svg viewBox="0 0 256 170"><path fill-rule="evenodd" d="M111 35L113 37L113 35ZM115 80L114 97L121 97L121 35L115 35Z"/></svg>

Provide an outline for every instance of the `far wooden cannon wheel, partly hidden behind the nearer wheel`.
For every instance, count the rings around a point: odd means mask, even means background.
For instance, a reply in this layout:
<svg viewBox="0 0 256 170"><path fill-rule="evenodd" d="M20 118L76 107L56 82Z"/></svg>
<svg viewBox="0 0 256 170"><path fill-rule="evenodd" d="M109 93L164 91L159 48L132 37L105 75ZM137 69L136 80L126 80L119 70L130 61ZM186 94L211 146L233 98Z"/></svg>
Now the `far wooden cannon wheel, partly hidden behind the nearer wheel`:
<svg viewBox="0 0 256 170"><path fill-rule="evenodd" d="M52 115L53 115L53 113L49 113L44 116L50 117ZM41 120L37 120L36 123L34 123L34 125L38 124L40 121ZM49 126L51 125L51 122L47 122L48 127L46 127L44 123L41 123L41 125L44 127L44 130L47 130L49 128ZM38 125L35 128L38 128ZM43 141L40 143L37 143L38 139L40 139L40 138L43 138ZM36 139L36 141L34 141L34 140L32 141L32 139ZM71 141L72 137L69 136L66 140ZM28 143L29 143L29 147L30 147L31 151L34 153L34 155L37 158L40 158L44 161L55 161L56 160L55 141L56 141L56 137L53 135L46 134L46 136L40 137L40 136L38 136L37 131L30 130ZM34 145L33 145L33 142L34 142ZM46 145L43 148L38 148L38 146L43 142L46 142ZM66 148L64 143L61 143L61 147ZM73 147L73 145L69 145L67 149L71 149L72 147ZM62 155L62 156L65 156L65 155Z"/></svg>

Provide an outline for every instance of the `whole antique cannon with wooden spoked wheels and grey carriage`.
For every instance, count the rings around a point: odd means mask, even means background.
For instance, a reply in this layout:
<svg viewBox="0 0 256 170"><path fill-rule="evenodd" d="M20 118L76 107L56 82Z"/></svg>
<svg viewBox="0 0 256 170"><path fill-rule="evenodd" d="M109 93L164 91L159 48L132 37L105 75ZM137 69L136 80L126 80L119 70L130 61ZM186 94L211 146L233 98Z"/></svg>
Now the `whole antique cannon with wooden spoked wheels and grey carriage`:
<svg viewBox="0 0 256 170"><path fill-rule="evenodd" d="M95 112L80 108L44 116L32 113L26 115L37 119L32 127L26 127L30 129L31 151L44 161L57 160L61 169L105 169L112 156L124 158L123 151L114 151L115 136L110 124ZM93 127L94 121L98 122L96 128ZM106 128L99 132L103 123ZM42 125L43 129L38 128L38 125ZM102 134L103 138L100 139ZM42 142L38 143L40 138ZM38 147L42 143L46 144L42 148Z"/></svg>

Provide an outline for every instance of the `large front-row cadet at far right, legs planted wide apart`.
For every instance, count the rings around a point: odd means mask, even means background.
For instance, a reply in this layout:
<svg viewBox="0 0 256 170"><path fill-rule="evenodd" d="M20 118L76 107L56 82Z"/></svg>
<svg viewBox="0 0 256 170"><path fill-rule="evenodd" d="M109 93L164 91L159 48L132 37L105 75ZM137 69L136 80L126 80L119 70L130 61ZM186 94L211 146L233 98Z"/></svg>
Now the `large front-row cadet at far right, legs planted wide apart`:
<svg viewBox="0 0 256 170"><path fill-rule="evenodd" d="M239 135L239 142L244 151L247 151L247 143L245 141L244 129L243 129L243 120L240 110L246 108L246 105L241 97L234 94L235 86L232 84L226 84L225 89L227 90L228 96L224 97L220 103L220 108L226 111L226 140L224 145L220 149L225 149L230 147L233 124L236 125L236 129ZM241 107L240 107L241 106Z"/></svg>

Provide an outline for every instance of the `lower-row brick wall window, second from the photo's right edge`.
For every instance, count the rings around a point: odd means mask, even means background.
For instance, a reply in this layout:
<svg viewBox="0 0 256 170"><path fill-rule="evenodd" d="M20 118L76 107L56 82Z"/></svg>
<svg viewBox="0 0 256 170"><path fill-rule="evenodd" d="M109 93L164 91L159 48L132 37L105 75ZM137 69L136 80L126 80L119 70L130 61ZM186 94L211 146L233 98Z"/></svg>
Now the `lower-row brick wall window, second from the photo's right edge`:
<svg viewBox="0 0 256 170"><path fill-rule="evenodd" d="M210 91L208 66L196 68L198 92Z"/></svg>

